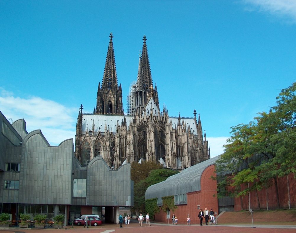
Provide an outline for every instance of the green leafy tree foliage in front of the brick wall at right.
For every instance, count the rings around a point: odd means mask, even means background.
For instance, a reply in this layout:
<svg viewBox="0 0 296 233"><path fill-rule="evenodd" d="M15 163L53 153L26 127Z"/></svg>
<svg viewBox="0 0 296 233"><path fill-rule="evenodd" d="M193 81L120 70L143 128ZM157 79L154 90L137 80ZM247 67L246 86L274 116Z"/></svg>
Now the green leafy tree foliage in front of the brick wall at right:
<svg viewBox="0 0 296 233"><path fill-rule="evenodd" d="M279 207L277 178L290 172L296 175L295 93L293 83L281 91L269 112L231 128L224 154L216 162L218 198L244 196L248 191L255 191L258 198L257 190L275 184Z"/></svg>

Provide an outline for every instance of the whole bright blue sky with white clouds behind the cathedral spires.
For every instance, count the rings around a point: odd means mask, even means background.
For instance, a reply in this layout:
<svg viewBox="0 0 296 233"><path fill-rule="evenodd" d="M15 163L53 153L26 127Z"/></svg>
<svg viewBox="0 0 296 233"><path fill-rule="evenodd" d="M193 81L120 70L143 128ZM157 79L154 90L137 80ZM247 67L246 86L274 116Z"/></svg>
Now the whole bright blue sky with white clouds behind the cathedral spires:
<svg viewBox="0 0 296 233"><path fill-rule="evenodd" d="M113 33L123 105L143 36L160 105L200 113L211 156L231 126L268 111L296 80L296 1L0 0L0 110L51 145L92 112Z"/></svg>

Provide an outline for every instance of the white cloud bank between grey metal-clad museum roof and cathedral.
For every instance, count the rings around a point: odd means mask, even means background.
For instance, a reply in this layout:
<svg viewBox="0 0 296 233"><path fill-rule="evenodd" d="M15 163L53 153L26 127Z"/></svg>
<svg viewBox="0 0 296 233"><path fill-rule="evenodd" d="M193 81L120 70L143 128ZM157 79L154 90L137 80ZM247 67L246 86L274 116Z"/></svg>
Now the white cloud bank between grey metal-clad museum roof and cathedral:
<svg viewBox="0 0 296 233"><path fill-rule="evenodd" d="M41 129L50 145L74 138L77 112L52 100L32 96L28 99L15 97L13 93L0 88L0 110L13 121L24 118L27 131Z"/></svg>

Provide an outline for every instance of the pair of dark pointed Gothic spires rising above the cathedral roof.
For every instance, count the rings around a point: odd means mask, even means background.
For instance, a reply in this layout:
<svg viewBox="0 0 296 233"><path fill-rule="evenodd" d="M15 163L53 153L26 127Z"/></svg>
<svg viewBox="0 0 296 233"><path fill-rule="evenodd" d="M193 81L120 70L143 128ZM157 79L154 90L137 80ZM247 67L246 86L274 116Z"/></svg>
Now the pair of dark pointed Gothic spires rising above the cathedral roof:
<svg viewBox="0 0 296 233"><path fill-rule="evenodd" d="M122 115L122 89L121 84L118 86L117 82L112 33L110 33L109 37L110 42L107 51L104 76L102 86L100 83L98 86L94 113ZM134 105L131 106L132 113L141 113L150 98L153 98L157 108L159 109L157 87L155 84L155 88L153 88L146 40L146 36L144 35L142 54L140 54L139 58L137 86L135 93L133 93Z"/></svg>

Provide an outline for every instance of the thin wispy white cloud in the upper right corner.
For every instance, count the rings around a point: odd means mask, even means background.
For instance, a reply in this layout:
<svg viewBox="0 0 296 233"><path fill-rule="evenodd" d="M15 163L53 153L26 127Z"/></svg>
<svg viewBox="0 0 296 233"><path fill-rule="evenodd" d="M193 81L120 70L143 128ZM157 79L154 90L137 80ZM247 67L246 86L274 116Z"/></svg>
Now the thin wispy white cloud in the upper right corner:
<svg viewBox="0 0 296 233"><path fill-rule="evenodd" d="M287 18L290 23L296 23L296 0L243 0L246 10L269 12L279 17Z"/></svg>

